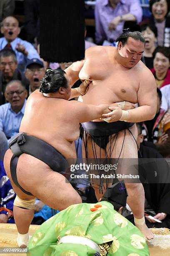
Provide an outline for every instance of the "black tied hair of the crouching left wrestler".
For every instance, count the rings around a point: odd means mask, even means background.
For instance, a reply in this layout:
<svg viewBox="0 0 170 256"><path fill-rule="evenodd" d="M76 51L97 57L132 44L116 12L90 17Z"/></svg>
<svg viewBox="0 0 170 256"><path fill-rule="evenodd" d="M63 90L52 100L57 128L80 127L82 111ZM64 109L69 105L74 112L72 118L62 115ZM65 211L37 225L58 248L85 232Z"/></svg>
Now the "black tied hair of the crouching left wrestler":
<svg viewBox="0 0 170 256"><path fill-rule="evenodd" d="M67 88L67 79L65 77L65 71L62 69L51 69L47 67L45 76L40 81L40 92L53 93L57 92L60 87Z"/></svg>

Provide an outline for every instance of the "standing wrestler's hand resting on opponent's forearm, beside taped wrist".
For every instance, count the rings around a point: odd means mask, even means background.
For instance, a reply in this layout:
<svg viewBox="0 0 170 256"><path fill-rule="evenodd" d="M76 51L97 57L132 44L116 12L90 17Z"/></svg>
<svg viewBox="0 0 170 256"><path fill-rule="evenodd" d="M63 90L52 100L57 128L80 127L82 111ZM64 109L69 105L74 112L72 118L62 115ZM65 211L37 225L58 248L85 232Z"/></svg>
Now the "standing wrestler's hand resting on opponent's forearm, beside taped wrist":
<svg viewBox="0 0 170 256"><path fill-rule="evenodd" d="M107 123L116 122L120 120L122 116L122 110L119 107L108 107L109 110L112 110L110 113L102 114L101 120L106 121Z"/></svg>

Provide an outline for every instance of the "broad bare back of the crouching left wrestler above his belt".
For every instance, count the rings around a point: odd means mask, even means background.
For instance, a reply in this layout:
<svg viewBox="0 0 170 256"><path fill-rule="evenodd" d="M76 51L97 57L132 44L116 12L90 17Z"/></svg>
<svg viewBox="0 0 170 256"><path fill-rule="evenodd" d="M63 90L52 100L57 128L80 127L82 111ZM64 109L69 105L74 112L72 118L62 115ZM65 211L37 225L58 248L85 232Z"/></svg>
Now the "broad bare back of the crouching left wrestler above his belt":
<svg viewBox="0 0 170 256"><path fill-rule="evenodd" d="M76 158L74 141L79 136L79 123L71 113L72 102L45 97L36 90L28 98L20 132L46 141L65 158Z"/></svg>

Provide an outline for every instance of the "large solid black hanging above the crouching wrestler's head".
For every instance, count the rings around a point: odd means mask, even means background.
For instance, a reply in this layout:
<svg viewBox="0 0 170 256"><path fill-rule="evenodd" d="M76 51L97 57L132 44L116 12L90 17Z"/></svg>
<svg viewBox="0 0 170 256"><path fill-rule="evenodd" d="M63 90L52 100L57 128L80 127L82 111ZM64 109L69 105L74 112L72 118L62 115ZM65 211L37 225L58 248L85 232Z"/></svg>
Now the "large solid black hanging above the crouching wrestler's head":
<svg viewBox="0 0 170 256"><path fill-rule="evenodd" d="M40 0L40 56L45 61L84 59L84 0Z"/></svg>

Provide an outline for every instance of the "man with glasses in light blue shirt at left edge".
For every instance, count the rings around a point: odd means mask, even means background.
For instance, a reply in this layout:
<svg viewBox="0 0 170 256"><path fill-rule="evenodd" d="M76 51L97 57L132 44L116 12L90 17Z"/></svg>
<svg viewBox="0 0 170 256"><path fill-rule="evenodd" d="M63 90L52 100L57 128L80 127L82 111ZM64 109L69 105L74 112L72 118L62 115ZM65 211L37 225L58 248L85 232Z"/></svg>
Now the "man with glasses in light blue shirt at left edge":
<svg viewBox="0 0 170 256"><path fill-rule="evenodd" d="M27 90L20 80L13 80L7 84L5 99L8 103L0 106L0 148L4 147L4 141L7 145L7 141L19 133L27 95ZM8 146L3 152L7 149ZM3 159L3 156L0 159Z"/></svg>

